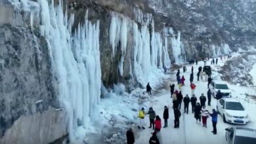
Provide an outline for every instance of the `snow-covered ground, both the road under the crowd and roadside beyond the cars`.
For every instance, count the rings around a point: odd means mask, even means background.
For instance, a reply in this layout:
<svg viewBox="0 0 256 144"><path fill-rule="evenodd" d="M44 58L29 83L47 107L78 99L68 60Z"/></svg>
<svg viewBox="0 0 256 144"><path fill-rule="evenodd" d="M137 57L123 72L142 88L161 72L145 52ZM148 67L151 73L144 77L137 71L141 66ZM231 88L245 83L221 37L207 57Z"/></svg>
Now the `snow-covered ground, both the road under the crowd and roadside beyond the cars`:
<svg viewBox="0 0 256 144"><path fill-rule="evenodd" d="M210 63L207 62L209 65ZM213 76L214 80L221 79L220 75L221 73L217 73L219 67L221 65L224 65L224 61L220 62L219 65L213 66ZM198 71L198 67L203 66L203 62L199 62L198 65L194 65L194 83L196 84L196 97L199 99L201 94L203 93L205 96L207 96L207 82L206 81L197 81L196 73ZM181 72L181 76L184 75L186 81L185 86L182 87L182 94L185 96L188 94L191 95L190 90L190 82L189 82L189 75L191 73L191 65L187 66L188 71L186 73ZM253 69L255 73L255 67ZM254 74L253 72L251 74ZM172 75L171 77L175 77L175 75ZM254 74L255 79L255 74ZM176 81L171 81L168 83L175 83ZM255 109L256 104L255 100L253 99L253 96L255 98L255 88L253 87L243 87L243 86L235 86L232 84L228 84L230 89L232 90L232 97L235 97L240 100L240 102L244 105L246 111L249 113L249 118L251 122L249 124L245 125L245 127L255 128L256 126L256 115L255 115ZM175 86L177 88L177 85ZM245 98L245 94L249 94L248 100ZM206 102L207 103L207 102ZM183 103L182 103L183 104ZM216 109L217 100L212 98L211 99L211 106L207 106L207 109L211 112L211 109ZM196 119L194 118L194 114L192 114L191 111L191 105L189 106L189 113L184 114L184 107L182 105L181 112L182 116L180 118L180 128L173 128L174 126L174 115L173 115L173 109L172 107L172 99L170 98L169 89L163 90L161 94L158 94L158 96L152 96L152 100L150 103L148 103L148 107L153 107L154 111L156 111L156 115L160 115L160 117L163 117L163 107L164 105L169 105L169 120L168 120L168 127L161 129L161 137L163 144L165 143L226 143L225 139L225 128L229 126L235 126L234 124L227 124L223 122L223 117L221 115L218 115L218 122L217 122L217 135L213 135L211 131L213 130L212 124L211 124L211 118L207 119L207 128L204 128L202 126L202 123L196 122ZM148 109L146 109L147 111ZM135 143L148 143L148 140L151 137L151 133L153 132L152 129L148 128L149 125L149 118L146 116L146 130L139 130L139 135L136 135L137 139L135 140ZM162 119L162 126L163 126L163 119Z"/></svg>

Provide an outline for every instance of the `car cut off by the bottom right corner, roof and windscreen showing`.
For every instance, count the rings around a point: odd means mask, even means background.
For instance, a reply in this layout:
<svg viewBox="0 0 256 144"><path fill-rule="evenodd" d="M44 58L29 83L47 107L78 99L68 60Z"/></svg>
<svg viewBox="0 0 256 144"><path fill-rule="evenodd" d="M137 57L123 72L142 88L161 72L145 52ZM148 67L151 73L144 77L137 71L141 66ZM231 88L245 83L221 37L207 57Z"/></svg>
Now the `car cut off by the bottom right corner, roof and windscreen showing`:
<svg viewBox="0 0 256 144"><path fill-rule="evenodd" d="M256 130L251 128L226 128L226 141L229 144L256 143Z"/></svg>

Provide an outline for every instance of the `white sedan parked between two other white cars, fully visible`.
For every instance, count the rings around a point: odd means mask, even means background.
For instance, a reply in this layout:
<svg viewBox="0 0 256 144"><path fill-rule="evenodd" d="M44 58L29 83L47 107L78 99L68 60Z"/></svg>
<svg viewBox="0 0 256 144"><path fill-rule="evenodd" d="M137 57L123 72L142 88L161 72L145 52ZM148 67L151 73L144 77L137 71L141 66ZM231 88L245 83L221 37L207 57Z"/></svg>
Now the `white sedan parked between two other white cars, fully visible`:
<svg viewBox="0 0 256 144"><path fill-rule="evenodd" d="M235 98L221 98L217 102L217 111L223 116L224 122L247 124L248 115L243 105Z"/></svg>

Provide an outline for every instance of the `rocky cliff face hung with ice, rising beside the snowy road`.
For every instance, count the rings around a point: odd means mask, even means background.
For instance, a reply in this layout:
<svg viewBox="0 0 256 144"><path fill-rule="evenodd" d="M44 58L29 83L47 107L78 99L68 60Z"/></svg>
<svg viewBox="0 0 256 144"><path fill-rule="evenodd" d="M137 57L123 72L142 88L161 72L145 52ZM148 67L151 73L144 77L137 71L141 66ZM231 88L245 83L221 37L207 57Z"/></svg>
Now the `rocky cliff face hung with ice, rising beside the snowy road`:
<svg viewBox="0 0 256 144"><path fill-rule="evenodd" d="M0 143L87 128L100 81L131 90L172 63L255 45L253 0L0 3Z"/></svg>

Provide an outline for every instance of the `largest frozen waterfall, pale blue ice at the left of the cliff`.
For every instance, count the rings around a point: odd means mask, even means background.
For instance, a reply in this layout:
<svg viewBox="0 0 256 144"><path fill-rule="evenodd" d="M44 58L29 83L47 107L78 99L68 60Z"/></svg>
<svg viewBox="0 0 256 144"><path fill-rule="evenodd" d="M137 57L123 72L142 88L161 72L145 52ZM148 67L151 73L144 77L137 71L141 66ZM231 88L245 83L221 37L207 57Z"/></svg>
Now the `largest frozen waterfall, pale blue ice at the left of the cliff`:
<svg viewBox="0 0 256 144"><path fill-rule="evenodd" d="M62 2L39 0L41 35L49 44L54 75L58 78L58 98L68 112L70 139L75 130L87 128L89 116L100 102L99 21L92 24L85 17L72 35L74 15L68 20Z"/></svg>

